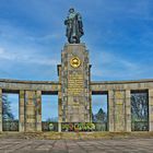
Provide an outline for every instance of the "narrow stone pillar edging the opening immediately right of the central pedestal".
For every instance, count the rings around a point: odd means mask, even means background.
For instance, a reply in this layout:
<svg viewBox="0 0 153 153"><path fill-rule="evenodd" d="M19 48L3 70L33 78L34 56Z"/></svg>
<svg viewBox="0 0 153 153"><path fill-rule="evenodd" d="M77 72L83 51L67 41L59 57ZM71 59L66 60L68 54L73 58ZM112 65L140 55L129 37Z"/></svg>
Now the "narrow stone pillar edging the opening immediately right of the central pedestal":
<svg viewBox="0 0 153 153"><path fill-rule="evenodd" d="M115 130L115 109L114 109L114 92L108 91L108 131Z"/></svg>

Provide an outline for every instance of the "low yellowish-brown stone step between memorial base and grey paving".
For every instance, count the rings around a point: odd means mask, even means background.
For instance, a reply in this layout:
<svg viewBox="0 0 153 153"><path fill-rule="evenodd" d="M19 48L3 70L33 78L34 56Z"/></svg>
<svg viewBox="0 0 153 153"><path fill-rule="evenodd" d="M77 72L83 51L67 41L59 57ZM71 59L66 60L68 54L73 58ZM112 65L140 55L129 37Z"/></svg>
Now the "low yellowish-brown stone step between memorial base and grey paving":
<svg viewBox="0 0 153 153"><path fill-rule="evenodd" d="M125 139L153 138L153 132L2 132L0 139L40 139L40 140L89 140L89 139Z"/></svg>

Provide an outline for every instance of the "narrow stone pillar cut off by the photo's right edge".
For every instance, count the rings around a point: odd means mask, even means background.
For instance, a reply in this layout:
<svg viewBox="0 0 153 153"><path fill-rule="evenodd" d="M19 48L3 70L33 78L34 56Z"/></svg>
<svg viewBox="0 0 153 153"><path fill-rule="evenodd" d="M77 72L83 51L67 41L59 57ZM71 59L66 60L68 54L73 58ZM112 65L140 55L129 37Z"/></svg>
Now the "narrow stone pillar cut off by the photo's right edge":
<svg viewBox="0 0 153 153"><path fill-rule="evenodd" d="M149 131L153 131L153 89L149 90Z"/></svg>

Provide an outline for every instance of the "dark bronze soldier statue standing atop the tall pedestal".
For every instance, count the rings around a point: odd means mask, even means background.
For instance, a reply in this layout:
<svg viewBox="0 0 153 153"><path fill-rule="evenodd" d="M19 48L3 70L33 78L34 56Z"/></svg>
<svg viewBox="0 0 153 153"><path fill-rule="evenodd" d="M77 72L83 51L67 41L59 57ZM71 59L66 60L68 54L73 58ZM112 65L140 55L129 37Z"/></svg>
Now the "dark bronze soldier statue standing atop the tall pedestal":
<svg viewBox="0 0 153 153"><path fill-rule="evenodd" d="M81 14L71 8L69 15L64 20L64 25L67 25L66 36L68 37L68 42L70 44L79 44L80 37L84 34Z"/></svg>

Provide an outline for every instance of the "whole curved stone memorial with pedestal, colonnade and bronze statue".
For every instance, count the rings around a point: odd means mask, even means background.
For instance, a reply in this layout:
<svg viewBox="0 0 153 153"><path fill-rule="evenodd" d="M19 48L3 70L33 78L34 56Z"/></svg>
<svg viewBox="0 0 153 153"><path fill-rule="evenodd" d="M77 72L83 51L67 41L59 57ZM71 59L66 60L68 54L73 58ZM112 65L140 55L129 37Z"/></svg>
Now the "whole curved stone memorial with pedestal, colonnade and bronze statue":
<svg viewBox="0 0 153 153"><path fill-rule="evenodd" d="M68 43L61 51L61 63L57 66L58 81L0 80L0 130L152 131L153 81L92 81L90 51L81 42L84 34L81 14L71 8L64 25ZM3 121L3 93L19 94L19 122ZM42 123L43 94L58 95L56 123ZM102 109L98 122L94 122L92 114L92 95L107 96L108 113L106 115Z"/></svg>

